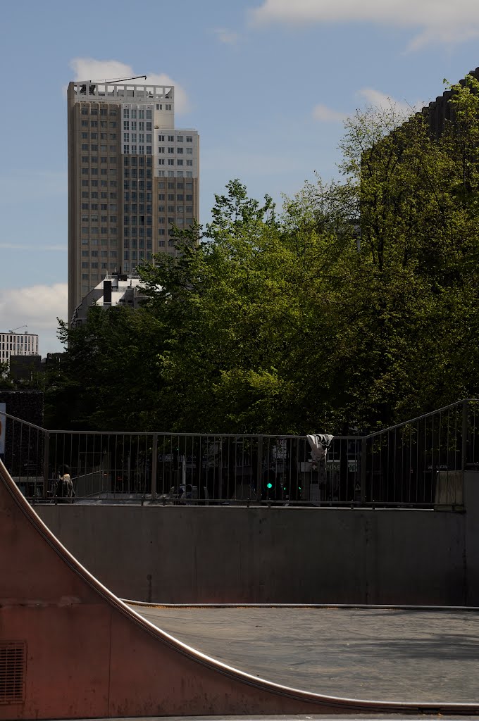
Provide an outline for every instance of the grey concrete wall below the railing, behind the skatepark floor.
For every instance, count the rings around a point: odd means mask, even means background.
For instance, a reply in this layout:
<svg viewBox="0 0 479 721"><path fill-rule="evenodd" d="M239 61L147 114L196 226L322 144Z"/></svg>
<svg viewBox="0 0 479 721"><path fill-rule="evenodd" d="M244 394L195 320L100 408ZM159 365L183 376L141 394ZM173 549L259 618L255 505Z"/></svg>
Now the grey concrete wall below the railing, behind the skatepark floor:
<svg viewBox="0 0 479 721"><path fill-rule="evenodd" d="M478 487L479 475L468 475ZM35 510L123 598L479 605L474 513L118 505ZM467 535L478 539L469 559Z"/></svg>

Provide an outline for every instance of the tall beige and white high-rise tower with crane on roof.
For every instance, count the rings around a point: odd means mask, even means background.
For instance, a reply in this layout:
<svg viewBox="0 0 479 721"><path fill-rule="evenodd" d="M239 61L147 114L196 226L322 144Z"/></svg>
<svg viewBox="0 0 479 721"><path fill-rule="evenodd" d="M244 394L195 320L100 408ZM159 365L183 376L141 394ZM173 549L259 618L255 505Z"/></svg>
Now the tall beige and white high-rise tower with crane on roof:
<svg viewBox="0 0 479 721"><path fill-rule="evenodd" d="M71 82L69 318L115 268L175 254L198 219L199 138L175 129L173 86Z"/></svg>

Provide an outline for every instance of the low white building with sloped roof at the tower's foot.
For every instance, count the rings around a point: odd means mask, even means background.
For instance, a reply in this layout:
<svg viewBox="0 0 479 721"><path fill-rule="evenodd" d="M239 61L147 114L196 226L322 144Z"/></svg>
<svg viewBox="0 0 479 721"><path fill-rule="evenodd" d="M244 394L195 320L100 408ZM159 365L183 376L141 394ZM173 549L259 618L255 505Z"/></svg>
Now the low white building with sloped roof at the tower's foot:
<svg viewBox="0 0 479 721"><path fill-rule="evenodd" d="M74 327L82 325L87 320L89 309L94 305L105 309L113 306L128 306L136 309L145 299L138 275L121 273L105 275L105 278L100 280L100 283L76 306L70 319L71 325Z"/></svg>

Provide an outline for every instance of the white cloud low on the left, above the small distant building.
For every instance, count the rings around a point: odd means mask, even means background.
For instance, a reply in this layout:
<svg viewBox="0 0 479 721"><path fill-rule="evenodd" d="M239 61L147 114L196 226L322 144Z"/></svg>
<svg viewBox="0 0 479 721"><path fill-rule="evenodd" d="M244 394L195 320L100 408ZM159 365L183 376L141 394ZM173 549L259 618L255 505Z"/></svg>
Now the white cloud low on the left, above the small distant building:
<svg viewBox="0 0 479 721"><path fill-rule="evenodd" d="M30 333L55 332L57 317L66 319L68 286L30 286L0 290L0 328L10 329L26 324Z"/></svg>

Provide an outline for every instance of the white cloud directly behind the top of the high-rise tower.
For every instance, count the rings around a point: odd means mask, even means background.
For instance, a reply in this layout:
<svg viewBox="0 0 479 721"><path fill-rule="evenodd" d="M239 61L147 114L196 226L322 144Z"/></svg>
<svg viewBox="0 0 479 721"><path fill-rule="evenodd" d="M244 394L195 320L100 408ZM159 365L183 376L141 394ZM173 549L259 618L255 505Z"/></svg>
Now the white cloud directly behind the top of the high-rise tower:
<svg viewBox="0 0 479 721"><path fill-rule="evenodd" d="M74 80L110 80L132 78L138 75L133 68L118 60L95 60L95 58L73 58L69 66L74 71ZM183 115L190 112L190 102L185 89L166 73L146 73L146 81L139 78L138 84L175 86L175 113Z"/></svg>

